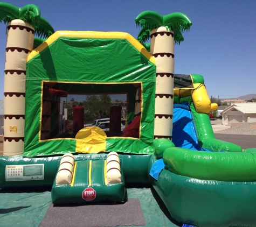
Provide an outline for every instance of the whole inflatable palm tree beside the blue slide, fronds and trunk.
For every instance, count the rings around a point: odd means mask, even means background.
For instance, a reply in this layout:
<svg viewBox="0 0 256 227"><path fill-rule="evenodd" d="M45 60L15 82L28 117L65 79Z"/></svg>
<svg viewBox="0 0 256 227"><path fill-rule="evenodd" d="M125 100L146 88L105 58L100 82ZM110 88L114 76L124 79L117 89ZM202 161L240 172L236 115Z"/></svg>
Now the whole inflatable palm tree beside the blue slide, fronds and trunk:
<svg viewBox="0 0 256 227"><path fill-rule="evenodd" d="M172 137L174 97L174 44L184 40L182 32L192 25L188 16L176 12L161 16L144 11L135 19L142 30L137 38L145 42L150 36L150 52L156 61L156 101L154 137Z"/></svg>

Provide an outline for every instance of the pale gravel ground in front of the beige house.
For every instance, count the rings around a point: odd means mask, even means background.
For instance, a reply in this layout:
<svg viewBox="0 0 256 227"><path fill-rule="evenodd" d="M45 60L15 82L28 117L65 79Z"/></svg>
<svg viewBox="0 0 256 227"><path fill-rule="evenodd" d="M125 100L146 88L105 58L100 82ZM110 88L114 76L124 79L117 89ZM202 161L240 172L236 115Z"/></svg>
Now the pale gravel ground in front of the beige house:
<svg viewBox="0 0 256 227"><path fill-rule="evenodd" d="M221 120L211 120L211 124L222 124ZM256 135L256 122L243 123L228 129L216 131L215 133L221 134L241 134L241 135Z"/></svg>

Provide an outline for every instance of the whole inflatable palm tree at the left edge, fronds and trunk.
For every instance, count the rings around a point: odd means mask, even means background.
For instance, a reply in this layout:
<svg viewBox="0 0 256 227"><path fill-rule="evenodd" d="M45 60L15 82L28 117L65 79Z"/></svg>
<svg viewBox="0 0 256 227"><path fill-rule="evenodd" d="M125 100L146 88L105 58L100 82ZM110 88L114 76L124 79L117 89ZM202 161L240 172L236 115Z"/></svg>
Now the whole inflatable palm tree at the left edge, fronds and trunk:
<svg viewBox="0 0 256 227"><path fill-rule="evenodd" d="M4 155L24 151L26 59L34 33L49 37L54 30L36 5L18 8L0 3L0 22L8 23L4 70Z"/></svg>

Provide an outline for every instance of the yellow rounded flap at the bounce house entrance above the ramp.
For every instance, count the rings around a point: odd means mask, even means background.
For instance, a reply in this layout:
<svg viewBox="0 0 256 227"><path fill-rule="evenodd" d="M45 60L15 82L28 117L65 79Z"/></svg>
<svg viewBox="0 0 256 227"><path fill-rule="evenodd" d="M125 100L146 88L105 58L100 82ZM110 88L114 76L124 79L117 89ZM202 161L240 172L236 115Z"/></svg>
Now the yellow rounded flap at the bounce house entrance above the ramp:
<svg viewBox="0 0 256 227"><path fill-rule="evenodd" d="M77 139L75 152L88 154L105 152L106 138L106 133L100 127L84 127L75 136Z"/></svg>

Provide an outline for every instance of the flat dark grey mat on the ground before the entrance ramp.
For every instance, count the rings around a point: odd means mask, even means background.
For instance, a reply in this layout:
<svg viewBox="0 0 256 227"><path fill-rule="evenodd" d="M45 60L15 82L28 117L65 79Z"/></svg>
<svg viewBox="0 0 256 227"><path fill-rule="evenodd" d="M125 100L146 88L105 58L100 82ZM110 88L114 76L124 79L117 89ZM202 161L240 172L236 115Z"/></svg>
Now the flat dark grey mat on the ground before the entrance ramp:
<svg viewBox="0 0 256 227"><path fill-rule="evenodd" d="M146 225L140 200L136 198L122 204L51 204L39 224L40 227L129 225Z"/></svg>

